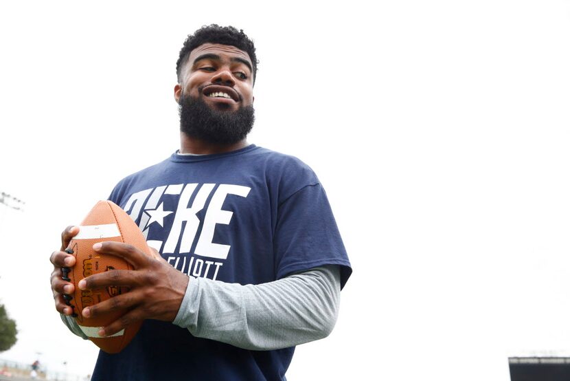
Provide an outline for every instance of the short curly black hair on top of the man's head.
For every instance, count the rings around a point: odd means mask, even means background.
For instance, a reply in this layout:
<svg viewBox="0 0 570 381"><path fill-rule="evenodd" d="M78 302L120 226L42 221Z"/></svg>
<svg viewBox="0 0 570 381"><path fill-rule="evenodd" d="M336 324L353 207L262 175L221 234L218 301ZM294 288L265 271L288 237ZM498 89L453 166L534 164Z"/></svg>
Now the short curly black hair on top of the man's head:
<svg viewBox="0 0 570 381"><path fill-rule="evenodd" d="M243 30L237 30L233 28L233 26L220 26L217 24L204 25L202 28L196 30L194 34L188 34L180 50L178 61L176 61L176 77L179 83L181 80L181 69L188 60L190 52L205 43L232 45L249 54L249 58L253 64L253 83L255 83L259 61L255 57L255 45L253 45L253 41L249 39Z"/></svg>

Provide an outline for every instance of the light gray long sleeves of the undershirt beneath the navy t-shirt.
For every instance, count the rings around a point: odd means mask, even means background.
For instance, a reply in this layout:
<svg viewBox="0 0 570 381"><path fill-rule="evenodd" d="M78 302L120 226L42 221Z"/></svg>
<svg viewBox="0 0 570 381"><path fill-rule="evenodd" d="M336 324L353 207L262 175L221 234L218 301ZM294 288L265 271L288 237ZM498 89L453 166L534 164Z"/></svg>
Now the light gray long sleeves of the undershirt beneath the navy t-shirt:
<svg viewBox="0 0 570 381"><path fill-rule="evenodd" d="M190 277L172 323L196 337L243 349L293 347L330 334L340 303L340 269L326 265L260 285ZM62 315L76 335L76 320Z"/></svg>

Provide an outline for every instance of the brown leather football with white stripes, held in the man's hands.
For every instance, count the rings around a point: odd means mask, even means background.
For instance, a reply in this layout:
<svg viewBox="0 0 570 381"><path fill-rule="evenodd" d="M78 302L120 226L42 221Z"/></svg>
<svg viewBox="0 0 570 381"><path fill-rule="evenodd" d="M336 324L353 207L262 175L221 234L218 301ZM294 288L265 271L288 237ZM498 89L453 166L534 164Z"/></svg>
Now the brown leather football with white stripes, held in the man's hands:
<svg viewBox="0 0 570 381"><path fill-rule="evenodd" d="M93 318L84 318L81 312L84 307L128 292L128 288L111 286L79 290L77 287L81 279L92 274L109 270L134 270L133 265L121 257L95 252L93 244L103 241L129 243L151 257L152 252L135 221L110 201L100 201L93 206L79 226L78 234L71 239L65 250L76 257L76 265L71 268L62 268L62 278L76 286L73 294L64 295L67 305L73 308L73 317L76 318L83 333L100 349L107 353L118 353L135 337L142 322L129 325L113 336L101 337L98 335L99 329L117 320L127 310L119 309Z"/></svg>

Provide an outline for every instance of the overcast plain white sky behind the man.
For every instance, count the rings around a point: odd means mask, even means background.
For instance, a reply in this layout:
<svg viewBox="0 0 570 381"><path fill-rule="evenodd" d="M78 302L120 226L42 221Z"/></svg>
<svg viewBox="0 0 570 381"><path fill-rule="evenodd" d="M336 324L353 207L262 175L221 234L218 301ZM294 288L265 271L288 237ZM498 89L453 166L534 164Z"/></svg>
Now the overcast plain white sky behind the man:
<svg viewBox="0 0 570 381"><path fill-rule="evenodd" d="M508 356L570 354L570 1L13 1L0 190L27 204L0 206L0 358L91 372L49 254L178 148L176 58L209 23L254 39L249 141L315 169L354 268L289 380L508 380Z"/></svg>

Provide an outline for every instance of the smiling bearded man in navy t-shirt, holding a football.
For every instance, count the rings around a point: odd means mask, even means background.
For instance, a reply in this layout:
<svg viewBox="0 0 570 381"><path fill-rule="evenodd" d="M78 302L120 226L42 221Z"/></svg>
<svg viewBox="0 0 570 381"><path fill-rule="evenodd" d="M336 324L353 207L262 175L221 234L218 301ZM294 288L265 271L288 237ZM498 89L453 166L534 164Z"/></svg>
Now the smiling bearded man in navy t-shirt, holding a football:
<svg viewBox="0 0 570 381"><path fill-rule="evenodd" d="M188 36L176 63L180 150L123 179L109 199L139 224L151 259L122 243L98 250L136 270L80 281L130 287L84 316L129 312L112 335L145 320L120 353L100 352L93 380L285 380L295 345L328 336L352 270L326 194L295 157L247 143L253 127L253 42L233 27ZM77 227L62 232L62 248ZM79 336L52 253L56 309ZM114 273L114 274L113 274Z"/></svg>

